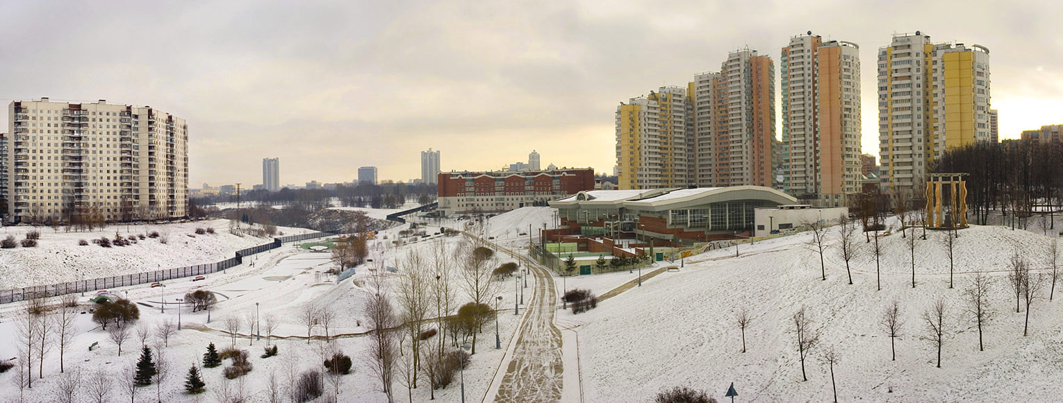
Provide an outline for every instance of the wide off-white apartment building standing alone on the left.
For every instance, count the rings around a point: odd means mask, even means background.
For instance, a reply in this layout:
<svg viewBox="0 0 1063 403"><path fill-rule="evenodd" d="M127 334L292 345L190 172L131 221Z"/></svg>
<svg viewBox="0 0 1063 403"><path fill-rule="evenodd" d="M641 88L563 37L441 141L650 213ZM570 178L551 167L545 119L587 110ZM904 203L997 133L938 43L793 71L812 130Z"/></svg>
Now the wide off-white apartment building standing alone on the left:
<svg viewBox="0 0 1063 403"><path fill-rule="evenodd" d="M7 111L10 221L187 215L184 119L103 100L15 101Z"/></svg>

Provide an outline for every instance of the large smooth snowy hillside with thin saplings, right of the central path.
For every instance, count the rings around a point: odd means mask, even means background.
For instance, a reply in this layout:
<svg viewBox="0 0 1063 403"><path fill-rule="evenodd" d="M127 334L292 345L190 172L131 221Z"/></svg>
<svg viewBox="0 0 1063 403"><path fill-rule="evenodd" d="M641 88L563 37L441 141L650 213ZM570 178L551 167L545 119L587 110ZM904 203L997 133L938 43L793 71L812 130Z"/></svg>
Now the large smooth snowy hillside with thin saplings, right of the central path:
<svg viewBox="0 0 1063 403"><path fill-rule="evenodd" d="M918 231L922 235L922 231ZM846 401L1057 401L1063 384L1063 301L1049 302L1046 284L1030 312L1030 334L1023 337L1025 309L1015 313L1007 269L1013 253L1035 268L1046 267L1049 239L1003 227L961 230L956 245L955 287L948 288L949 260L941 240L928 231L915 243L916 287L911 284L907 239L880 239L882 290L876 290L874 256L863 234L854 259L853 285L838 257L838 227L828 233L827 280L809 233L742 245L688 259L680 271L663 273L597 309L562 314L579 322L580 372L586 400L649 401L664 388L691 386L716 399L731 382L747 401L828 401L831 380L824 353L836 350L838 397ZM697 262L699 261L699 262ZM991 271L985 350L963 290L969 271ZM923 317L937 300L947 304L942 368L937 348L925 337ZM880 320L899 301L904 326L891 361L890 339ZM748 309L747 351L735 313ZM806 360L802 382L792 315L806 306L820 343ZM567 363L572 363L567 360ZM569 368L566 368L568 370ZM721 400L722 401L722 400Z"/></svg>

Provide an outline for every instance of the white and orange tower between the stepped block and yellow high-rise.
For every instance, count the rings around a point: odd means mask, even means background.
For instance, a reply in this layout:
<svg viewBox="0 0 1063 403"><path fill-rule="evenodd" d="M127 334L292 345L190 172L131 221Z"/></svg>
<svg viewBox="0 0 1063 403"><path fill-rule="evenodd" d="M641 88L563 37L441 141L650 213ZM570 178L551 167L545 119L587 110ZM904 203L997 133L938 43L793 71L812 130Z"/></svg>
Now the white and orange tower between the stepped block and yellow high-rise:
<svg viewBox="0 0 1063 403"><path fill-rule="evenodd" d="M819 35L790 38L782 80L782 190L844 206L861 188L860 48Z"/></svg>

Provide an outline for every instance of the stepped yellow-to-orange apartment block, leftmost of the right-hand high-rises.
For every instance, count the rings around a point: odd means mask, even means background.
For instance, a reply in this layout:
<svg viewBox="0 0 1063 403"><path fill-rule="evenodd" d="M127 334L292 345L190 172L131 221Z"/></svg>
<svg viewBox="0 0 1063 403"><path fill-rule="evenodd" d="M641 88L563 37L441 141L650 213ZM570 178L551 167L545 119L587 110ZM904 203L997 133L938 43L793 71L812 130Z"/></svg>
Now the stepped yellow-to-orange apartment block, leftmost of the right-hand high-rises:
<svg viewBox="0 0 1063 403"><path fill-rule="evenodd" d="M753 50L617 108L620 189L773 186L775 67Z"/></svg>

